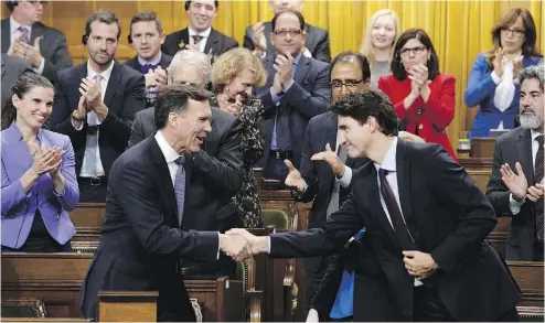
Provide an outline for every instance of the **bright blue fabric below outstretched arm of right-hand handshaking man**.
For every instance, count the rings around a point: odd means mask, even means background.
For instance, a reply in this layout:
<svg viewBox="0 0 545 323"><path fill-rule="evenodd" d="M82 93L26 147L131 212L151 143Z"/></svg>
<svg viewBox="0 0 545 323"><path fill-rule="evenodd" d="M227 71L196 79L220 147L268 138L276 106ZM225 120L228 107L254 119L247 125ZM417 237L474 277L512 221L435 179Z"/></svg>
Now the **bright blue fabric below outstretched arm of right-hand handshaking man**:
<svg viewBox="0 0 545 323"><path fill-rule="evenodd" d="M357 234L355 234L354 239L359 240L365 233L365 227L363 227ZM350 257L350 255L349 255ZM329 316L331 319L344 319L352 316L354 312L354 272L344 270L342 272L341 286L339 287L339 293L336 294L335 302Z"/></svg>

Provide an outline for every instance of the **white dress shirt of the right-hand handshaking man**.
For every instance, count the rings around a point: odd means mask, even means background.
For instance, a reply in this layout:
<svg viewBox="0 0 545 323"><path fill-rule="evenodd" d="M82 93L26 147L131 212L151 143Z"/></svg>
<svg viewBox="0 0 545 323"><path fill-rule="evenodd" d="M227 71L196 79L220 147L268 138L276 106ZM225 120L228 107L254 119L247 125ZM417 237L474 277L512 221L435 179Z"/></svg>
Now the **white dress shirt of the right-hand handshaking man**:
<svg viewBox="0 0 545 323"><path fill-rule="evenodd" d="M396 164L396 153L397 153L397 137L394 137L394 141L392 141L392 146L389 146L388 152L384 157L384 160L381 165L375 163L376 169L376 181L378 182L378 192L381 192L381 179L378 177L378 170L383 169L388 171L386 174L386 181L388 181L389 187L392 187L392 192L394 193L395 201L397 203L397 207L399 208L399 213L402 214L403 222L405 223L405 216L403 215L402 203L399 202L399 187L397 185L397 164ZM392 223L392 217L389 216L388 208L386 207L386 202L382 194L381 196L381 205L388 218L389 225L392 229L394 229L394 224ZM407 225L405 223L405 225ZM407 228L408 229L408 228ZM423 282L415 278L415 287L421 286Z"/></svg>

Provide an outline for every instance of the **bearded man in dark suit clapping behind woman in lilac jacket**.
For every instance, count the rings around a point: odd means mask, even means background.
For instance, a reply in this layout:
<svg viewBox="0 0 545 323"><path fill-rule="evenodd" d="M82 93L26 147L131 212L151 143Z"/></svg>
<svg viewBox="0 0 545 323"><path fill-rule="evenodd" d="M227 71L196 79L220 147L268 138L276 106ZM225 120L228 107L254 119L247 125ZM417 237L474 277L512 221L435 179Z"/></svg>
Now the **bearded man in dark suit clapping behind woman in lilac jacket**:
<svg viewBox="0 0 545 323"><path fill-rule="evenodd" d="M61 71L51 130L67 134L75 151L81 202L104 203L114 161L125 151L135 115L145 108L145 78L114 61L121 25L111 11L85 23L87 63Z"/></svg>

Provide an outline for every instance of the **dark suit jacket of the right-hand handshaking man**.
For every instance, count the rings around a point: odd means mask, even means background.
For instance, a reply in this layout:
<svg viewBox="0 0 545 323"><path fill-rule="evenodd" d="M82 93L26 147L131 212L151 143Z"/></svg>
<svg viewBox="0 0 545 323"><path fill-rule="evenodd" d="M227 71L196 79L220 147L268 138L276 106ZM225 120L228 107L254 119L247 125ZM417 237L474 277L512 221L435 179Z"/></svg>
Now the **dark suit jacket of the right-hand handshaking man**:
<svg viewBox="0 0 545 323"><path fill-rule="evenodd" d="M424 283L457 321L493 321L520 301L516 283L485 241L496 224L475 182L438 144L399 140L396 154L402 212L416 245L439 270ZM362 259L354 289L354 321L410 321L414 278L381 206L374 163L353 179L350 197L323 229L272 235L270 256L308 257L342 251L363 226L370 257ZM336 291L335 291L336 292Z"/></svg>

